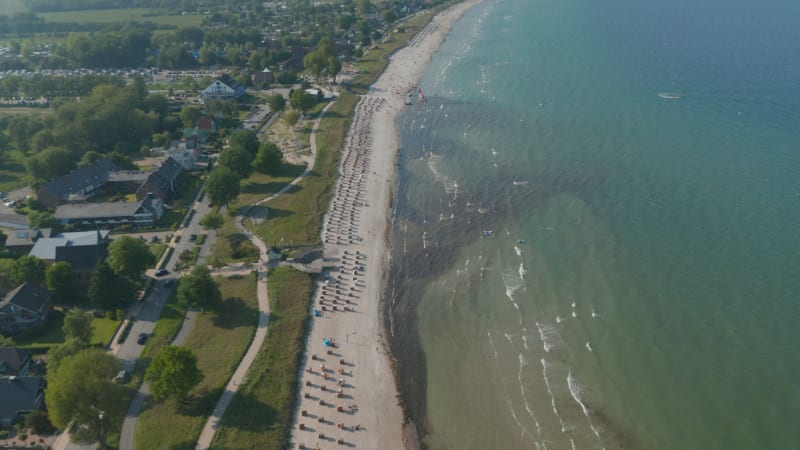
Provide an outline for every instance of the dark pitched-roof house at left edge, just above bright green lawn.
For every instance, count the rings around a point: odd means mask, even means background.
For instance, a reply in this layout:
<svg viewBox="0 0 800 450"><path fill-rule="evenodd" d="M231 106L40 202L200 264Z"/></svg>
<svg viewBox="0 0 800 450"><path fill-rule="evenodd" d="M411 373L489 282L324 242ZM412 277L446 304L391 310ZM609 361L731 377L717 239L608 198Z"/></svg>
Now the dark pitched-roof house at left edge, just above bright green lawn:
<svg viewBox="0 0 800 450"><path fill-rule="evenodd" d="M39 329L52 309L52 295L47 289L22 283L0 301L0 331L13 334Z"/></svg>

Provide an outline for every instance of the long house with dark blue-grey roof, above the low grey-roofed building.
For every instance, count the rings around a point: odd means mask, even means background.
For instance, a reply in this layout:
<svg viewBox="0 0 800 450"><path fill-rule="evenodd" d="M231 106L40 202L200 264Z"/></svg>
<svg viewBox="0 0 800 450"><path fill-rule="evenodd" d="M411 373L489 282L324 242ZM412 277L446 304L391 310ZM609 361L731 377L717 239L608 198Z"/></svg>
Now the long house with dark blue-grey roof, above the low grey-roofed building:
<svg viewBox="0 0 800 450"><path fill-rule="evenodd" d="M68 202L85 201L108 183L110 172L118 169L110 159L101 159L46 183L39 189L38 199L50 209Z"/></svg>

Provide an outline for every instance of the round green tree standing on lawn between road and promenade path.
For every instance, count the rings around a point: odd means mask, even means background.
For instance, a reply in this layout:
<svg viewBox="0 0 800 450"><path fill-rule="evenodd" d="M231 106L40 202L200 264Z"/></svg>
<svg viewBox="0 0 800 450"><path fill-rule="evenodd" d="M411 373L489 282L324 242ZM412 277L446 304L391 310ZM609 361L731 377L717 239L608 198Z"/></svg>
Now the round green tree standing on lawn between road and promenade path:
<svg viewBox="0 0 800 450"><path fill-rule="evenodd" d="M194 352L170 345L162 348L153 358L145 379L150 382L150 390L156 398L183 400L193 387L203 381L203 372L197 367L197 355Z"/></svg>

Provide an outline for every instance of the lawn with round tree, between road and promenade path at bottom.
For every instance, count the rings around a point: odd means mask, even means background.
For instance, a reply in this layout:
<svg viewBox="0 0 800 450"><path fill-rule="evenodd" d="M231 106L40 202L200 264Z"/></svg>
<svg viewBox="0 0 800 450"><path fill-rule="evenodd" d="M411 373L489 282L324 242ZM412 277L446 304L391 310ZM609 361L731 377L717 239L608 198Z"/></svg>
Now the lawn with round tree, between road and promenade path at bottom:
<svg viewBox="0 0 800 450"><path fill-rule="evenodd" d="M147 400L136 427L137 448L194 449L200 430L252 340L258 322L255 276L217 280L224 304L198 316L184 345L197 354L205 378L183 405L175 400Z"/></svg>

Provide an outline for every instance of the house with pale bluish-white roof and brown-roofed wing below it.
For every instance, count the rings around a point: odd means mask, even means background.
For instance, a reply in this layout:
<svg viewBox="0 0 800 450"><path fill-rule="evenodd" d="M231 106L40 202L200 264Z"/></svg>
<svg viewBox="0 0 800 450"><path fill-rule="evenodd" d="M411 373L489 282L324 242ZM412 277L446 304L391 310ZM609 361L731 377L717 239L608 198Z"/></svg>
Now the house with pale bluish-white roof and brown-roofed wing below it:
<svg viewBox="0 0 800 450"><path fill-rule="evenodd" d="M29 253L45 264L68 262L79 286L88 286L97 261L108 256L108 230L61 233L36 241Z"/></svg>

